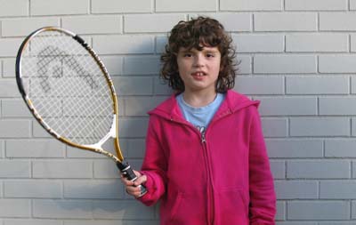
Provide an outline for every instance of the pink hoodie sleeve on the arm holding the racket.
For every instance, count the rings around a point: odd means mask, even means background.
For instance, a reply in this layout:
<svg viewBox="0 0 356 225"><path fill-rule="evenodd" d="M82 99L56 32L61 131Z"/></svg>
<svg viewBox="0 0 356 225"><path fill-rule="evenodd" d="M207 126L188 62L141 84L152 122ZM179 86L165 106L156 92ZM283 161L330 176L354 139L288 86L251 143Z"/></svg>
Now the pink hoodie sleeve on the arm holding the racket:
<svg viewBox="0 0 356 225"><path fill-rule="evenodd" d="M142 174L147 176L144 184L148 192L138 198L144 205L154 205L166 191L166 157L155 131L158 118L151 116L146 137L146 154L142 164Z"/></svg>

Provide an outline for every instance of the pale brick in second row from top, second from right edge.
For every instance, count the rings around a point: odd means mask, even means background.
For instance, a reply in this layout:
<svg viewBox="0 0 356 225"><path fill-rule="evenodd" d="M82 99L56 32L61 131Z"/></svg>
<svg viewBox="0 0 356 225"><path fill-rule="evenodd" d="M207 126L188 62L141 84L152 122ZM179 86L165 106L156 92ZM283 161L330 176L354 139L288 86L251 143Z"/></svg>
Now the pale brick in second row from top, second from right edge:
<svg viewBox="0 0 356 225"><path fill-rule="evenodd" d="M255 31L316 31L317 14L312 12L255 13Z"/></svg>

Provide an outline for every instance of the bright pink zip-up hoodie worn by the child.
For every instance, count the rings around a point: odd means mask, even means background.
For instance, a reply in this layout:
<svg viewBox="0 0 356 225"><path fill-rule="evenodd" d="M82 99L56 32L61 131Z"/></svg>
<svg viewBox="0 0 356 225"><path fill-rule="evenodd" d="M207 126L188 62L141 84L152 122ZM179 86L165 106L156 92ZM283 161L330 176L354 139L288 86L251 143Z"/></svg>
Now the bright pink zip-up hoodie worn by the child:
<svg viewBox="0 0 356 225"><path fill-rule="evenodd" d="M201 135L172 96L150 111L145 205L161 200L162 225L275 224L276 197L259 102L228 91Z"/></svg>

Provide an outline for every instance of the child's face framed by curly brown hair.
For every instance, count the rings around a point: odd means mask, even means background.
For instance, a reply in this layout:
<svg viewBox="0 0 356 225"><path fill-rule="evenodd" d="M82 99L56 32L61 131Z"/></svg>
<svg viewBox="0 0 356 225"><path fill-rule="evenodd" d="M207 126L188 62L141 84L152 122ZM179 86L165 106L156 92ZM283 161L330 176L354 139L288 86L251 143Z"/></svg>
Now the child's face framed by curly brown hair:
<svg viewBox="0 0 356 225"><path fill-rule="evenodd" d="M220 71L221 53L217 47L204 47L202 51L180 48L177 55L179 75L185 92L216 92L215 84Z"/></svg>

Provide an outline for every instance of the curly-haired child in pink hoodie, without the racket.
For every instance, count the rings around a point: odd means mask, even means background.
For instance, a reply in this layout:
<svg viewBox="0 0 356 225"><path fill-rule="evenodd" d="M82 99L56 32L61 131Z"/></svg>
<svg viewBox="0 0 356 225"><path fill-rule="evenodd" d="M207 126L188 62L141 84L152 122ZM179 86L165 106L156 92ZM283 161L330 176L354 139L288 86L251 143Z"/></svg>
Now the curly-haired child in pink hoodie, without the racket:
<svg viewBox="0 0 356 225"><path fill-rule="evenodd" d="M143 204L160 200L162 225L275 224L259 101L230 90L234 56L217 20L180 21L171 31L161 76L175 94L149 113L139 178L122 178Z"/></svg>

